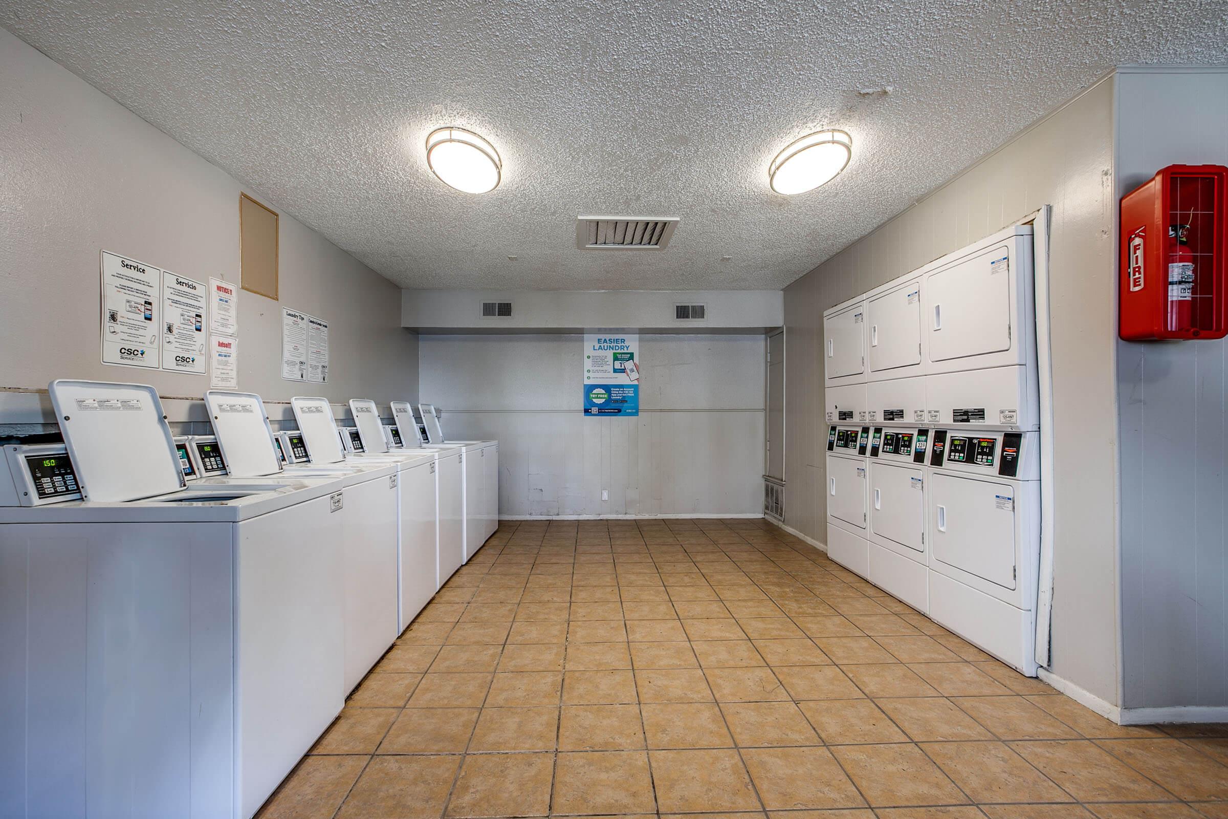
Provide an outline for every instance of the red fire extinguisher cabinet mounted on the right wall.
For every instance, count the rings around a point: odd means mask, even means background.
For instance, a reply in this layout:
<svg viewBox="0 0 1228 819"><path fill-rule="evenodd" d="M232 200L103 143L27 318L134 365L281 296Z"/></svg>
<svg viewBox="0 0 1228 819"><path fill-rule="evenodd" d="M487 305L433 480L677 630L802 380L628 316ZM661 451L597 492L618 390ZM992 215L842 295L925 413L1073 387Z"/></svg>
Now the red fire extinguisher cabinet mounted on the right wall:
<svg viewBox="0 0 1228 819"><path fill-rule="evenodd" d="M1121 199L1120 335L1228 335L1228 167L1170 165Z"/></svg>

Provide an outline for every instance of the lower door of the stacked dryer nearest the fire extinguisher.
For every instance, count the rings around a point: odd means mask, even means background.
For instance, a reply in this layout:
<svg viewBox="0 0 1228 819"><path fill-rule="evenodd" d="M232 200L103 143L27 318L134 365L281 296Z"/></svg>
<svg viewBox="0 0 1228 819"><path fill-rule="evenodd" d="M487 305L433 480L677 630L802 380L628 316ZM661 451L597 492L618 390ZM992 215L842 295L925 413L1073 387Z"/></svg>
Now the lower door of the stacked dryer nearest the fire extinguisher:
<svg viewBox="0 0 1228 819"><path fill-rule="evenodd" d="M935 560L1016 587L1016 487L993 480L930 474Z"/></svg>

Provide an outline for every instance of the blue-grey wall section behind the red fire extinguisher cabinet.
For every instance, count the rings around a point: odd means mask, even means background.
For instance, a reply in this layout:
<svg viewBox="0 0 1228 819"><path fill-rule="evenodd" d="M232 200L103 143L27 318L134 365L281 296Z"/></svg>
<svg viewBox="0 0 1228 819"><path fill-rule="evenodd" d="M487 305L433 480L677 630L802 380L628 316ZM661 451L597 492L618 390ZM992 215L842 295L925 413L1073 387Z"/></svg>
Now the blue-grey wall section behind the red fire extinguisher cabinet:
<svg viewBox="0 0 1228 819"><path fill-rule="evenodd" d="M1157 115L1170 112L1170 115ZM1117 195L1228 165L1228 70L1117 75ZM1117 343L1125 707L1228 706L1228 340Z"/></svg>

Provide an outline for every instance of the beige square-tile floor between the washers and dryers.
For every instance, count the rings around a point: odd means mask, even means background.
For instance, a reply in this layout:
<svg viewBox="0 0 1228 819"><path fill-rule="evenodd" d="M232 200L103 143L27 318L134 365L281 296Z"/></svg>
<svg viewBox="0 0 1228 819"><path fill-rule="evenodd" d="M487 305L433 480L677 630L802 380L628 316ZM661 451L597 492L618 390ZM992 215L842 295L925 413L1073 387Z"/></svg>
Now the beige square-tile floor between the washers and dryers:
<svg viewBox="0 0 1228 819"><path fill-rule="evenodd" d="M503 522L260 815L1228 819L1226 765L763 521Z"/></svg>

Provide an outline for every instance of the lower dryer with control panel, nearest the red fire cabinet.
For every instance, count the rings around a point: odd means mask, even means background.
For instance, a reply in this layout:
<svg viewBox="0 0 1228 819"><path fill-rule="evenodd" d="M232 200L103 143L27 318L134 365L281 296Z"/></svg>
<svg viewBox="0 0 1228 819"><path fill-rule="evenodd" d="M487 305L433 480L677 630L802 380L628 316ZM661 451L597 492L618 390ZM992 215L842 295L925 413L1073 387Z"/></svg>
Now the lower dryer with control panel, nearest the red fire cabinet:
<svg viewBox="0 0 1228 819"><path fill-rule="evenodd" d="M935 430L930 616L1029 677L1040 565L1036 432Z"/></svg>

